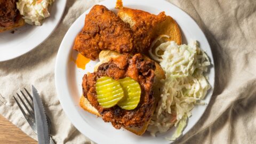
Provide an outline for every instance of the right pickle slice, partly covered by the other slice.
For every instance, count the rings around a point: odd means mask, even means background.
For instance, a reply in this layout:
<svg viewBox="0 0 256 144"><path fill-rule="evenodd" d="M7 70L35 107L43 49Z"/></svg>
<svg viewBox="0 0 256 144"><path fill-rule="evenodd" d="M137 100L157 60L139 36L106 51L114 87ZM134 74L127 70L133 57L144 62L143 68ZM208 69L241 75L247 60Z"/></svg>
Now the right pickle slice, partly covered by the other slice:
<svg viewBox="0 0 256 144"><path fill-rule="evenodd" d="M124 90L124 98L117 105L122 109L131 110L138 106L140 102L140 84L130 77L118 80Z"/></svg>

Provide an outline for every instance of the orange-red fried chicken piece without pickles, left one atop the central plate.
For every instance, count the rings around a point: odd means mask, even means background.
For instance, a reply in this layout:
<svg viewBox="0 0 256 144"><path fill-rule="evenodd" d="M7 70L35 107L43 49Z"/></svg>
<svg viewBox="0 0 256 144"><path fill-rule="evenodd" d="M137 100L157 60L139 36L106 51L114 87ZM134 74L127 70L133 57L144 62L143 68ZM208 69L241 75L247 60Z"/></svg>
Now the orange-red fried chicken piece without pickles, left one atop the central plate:
<svg viewBox="0 0 256 144"><path fill-rule="evenodd" d="M95 5L86 15L84 28L75 39L74 50L95 60L101 50L133 52L133 34L129 24L103 5Z"/></svg>

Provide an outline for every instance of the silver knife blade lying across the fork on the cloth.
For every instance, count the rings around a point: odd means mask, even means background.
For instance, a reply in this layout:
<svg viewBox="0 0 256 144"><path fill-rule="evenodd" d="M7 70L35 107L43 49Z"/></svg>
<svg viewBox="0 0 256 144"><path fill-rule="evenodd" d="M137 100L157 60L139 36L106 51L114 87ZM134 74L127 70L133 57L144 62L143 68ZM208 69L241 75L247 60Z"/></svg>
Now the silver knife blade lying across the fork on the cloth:
<svg viewBox="0 0 256 144"><path fill-rule="evenodd" d="M32 92L33 92L38 143L49 144L50 137L49 137L48 124L46 120L43 102L41 101L39 94L33 85L32 85Z"/></svg>

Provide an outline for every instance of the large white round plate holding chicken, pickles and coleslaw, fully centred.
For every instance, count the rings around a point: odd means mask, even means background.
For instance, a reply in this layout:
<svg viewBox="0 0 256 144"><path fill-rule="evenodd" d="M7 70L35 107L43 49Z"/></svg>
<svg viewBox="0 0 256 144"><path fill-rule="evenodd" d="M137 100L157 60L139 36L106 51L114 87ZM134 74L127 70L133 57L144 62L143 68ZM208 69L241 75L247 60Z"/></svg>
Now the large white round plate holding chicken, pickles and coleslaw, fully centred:
<svg viewBox="0 0 256 144"><path fill-rule="evenodd" d="M165 11L167 15L171 15L171 17L178 22L182 30L183 43L187 43L187 39L190 38L197 39L202 49L209 55L213 64L211 48L202 30L188 14L180 10L178 7L166 1L124 0L123 2L126 7L141 9L154 14ZM115 10L115 1L106 0L100 4L105 5L110 10ZM77 52L72 49L74 39L82 30L85 14L89 11L90 10L87 10L83 13L81 17L79 17L69 28L67 34L62 40L57 55L55 65L55 85L61 106L65 113L80 132L97 143L171 143L171 141L167 141L164 138L166 136L170 136L175 130L174 128L164 134L159 134L155 138L151 137L148 132L143 134L143 136L137 136L124 129L116 130L110 123L103 122L101 118L97 118L97 116L87 113L79 107L79 98L82 95L82 77L88 71L93 71L93 67L97 61L90 61L86 65L86 69L82 70L77 68L70 58L76 58ZM193 115L189 118L183 134L187 133L201 118L211 99L214 86L214 67L211 67L209 70L209 78L212 89L209 90L206 95L206 105L196 106L193 109Z"/></svg>

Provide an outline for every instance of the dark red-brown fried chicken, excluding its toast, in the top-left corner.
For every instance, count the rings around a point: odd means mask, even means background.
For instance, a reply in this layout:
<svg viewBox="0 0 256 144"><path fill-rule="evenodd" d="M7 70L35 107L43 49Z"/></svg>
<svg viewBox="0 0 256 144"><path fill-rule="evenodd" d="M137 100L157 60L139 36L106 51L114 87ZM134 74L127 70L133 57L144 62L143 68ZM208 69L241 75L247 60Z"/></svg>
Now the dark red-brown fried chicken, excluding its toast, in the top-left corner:
<svg viewBox="0 0 256 144"><path fill-rule="evenodd" d="M14 25L18 15L15 0L0 0L0 27Z"/></svg>

